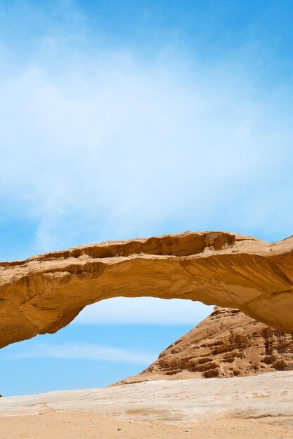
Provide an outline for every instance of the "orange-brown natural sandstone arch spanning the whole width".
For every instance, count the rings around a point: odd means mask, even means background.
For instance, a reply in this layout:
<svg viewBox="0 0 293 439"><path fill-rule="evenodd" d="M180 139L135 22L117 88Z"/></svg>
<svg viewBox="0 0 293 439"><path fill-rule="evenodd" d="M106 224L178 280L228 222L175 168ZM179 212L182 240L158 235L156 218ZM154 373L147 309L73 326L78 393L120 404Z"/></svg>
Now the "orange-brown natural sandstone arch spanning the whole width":
<svg viewBox="0 0 293 439"><path fill-rule="evenodd" d="M84 306L152 296L237 307L293 333L293 237L187 232L84 245L0 264L0 347L56 332Z"/></svg>

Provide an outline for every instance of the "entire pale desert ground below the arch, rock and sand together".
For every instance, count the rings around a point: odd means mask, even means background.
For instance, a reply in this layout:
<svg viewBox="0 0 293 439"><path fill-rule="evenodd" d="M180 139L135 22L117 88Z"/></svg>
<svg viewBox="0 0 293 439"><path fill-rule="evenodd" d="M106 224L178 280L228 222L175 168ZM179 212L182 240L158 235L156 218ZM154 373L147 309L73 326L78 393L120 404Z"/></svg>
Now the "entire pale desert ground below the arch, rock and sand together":
<svg viewBox="0 0 293 439"><path fill-rule="evenodd" d="M0 438L292 438L293 372L0 400Z"/></svg>

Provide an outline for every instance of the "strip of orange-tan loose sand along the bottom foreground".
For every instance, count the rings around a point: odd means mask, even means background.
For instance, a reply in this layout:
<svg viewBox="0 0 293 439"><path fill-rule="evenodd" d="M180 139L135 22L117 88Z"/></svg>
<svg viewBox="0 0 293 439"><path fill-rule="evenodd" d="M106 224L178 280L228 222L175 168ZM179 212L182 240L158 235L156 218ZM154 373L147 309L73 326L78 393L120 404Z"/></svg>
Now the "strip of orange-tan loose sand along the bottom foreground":
<svg viewBox="0 0 293 439"><path fill-rule="evenodd" d="M193 426L137 423L79 412L46 412L0 418L0 439L292 439L293 431L246 419L205 421Z"/></svg>

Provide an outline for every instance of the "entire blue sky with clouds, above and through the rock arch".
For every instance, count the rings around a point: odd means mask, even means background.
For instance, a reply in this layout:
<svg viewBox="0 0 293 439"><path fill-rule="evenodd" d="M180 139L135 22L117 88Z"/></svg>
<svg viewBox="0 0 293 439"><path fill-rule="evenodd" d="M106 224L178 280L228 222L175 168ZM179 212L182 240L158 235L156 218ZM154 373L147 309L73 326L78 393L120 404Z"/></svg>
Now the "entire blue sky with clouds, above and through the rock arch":
<svg viewBox="0 0 293 439"><path fill-rule="evenodd" d="M291 235L292 15L289 0L1 1L0 259L188 230ZM125 301L3 349L0 393L110 384L210 311Z"/></svg>

